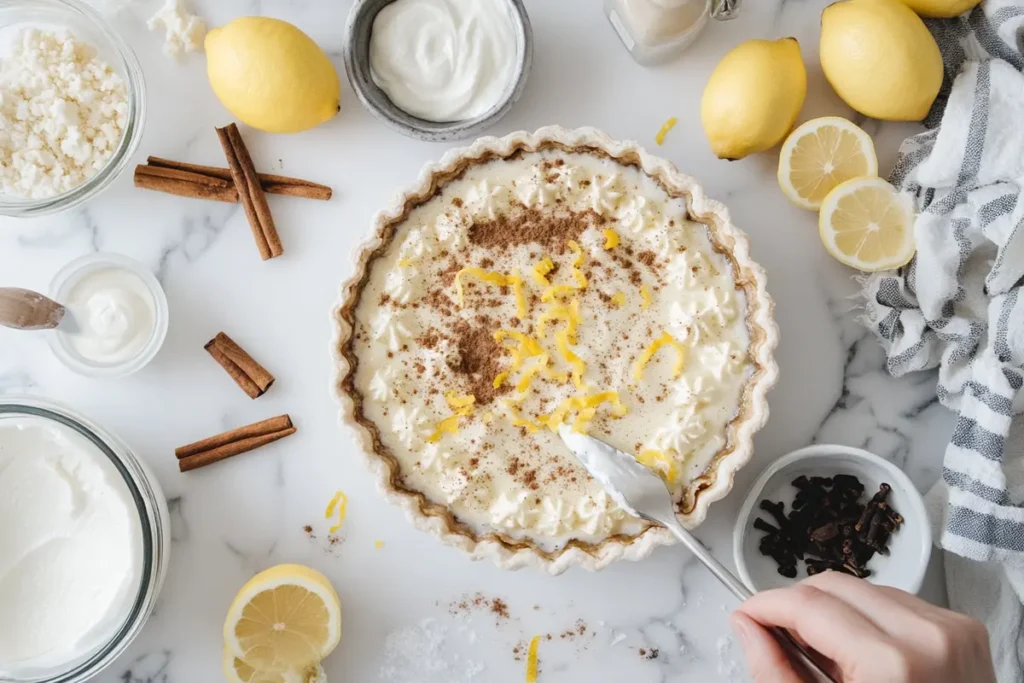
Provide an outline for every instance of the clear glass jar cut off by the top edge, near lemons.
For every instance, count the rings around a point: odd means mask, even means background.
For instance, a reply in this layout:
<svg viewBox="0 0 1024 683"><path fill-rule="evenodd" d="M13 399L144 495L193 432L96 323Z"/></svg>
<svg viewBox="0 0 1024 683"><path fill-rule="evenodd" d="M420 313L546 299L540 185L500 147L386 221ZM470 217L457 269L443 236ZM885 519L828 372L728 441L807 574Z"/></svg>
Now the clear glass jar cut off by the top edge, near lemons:
<svg viewBox="0 0 1024 683"><path fill-rule="evenodd" d="M730 19L740 0L605 0L604 11L623 45L642 65L667 61L685 50L708 19Z"/></svg>

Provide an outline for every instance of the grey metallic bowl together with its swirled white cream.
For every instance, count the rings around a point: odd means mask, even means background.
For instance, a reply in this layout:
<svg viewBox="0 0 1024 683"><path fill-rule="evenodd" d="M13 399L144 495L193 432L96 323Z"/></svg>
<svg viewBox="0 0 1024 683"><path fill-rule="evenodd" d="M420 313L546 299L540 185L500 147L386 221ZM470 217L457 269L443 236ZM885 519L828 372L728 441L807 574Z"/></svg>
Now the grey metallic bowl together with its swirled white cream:
<svg viewBox="0 0 1024 683"><path fill-rule="evenodd" d="M361 0L345 71L362 105L422 140L477 136L515 104L534 60L522 0Z"/></svg>

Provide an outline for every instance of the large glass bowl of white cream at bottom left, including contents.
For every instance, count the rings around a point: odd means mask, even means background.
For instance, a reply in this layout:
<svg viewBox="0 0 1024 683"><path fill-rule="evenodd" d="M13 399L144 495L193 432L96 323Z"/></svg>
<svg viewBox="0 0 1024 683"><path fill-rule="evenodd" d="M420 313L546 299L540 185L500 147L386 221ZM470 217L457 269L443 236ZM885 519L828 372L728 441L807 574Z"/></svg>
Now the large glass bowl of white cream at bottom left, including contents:
<svg viewBox="0 0 1024 683"><path fill-rule="evenodd" d="M0 397L0 682L77 683L153 611L170 515L114 434L36 398Z"/></svg>

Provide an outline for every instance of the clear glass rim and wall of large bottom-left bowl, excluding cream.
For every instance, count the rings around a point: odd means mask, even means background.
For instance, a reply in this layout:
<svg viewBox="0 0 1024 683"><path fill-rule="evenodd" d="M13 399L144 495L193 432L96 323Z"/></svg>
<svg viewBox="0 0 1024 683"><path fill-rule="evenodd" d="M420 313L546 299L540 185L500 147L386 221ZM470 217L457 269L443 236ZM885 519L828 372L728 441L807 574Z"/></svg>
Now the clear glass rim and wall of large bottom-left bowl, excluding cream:
<svg viewBox="0 0 1024 683"><path fill-rule="evenodd" d="M0 661L0 683L81 683L106 668L135 639L150 614L167 573L171 529L167 501L157 479L121 439L87 418L49 400L0 396L0 421L25 417L52 420L95 445L124 478L141 526L140 577L124 621L90 651L49 670L8 671ZM0 615L2 618L2 615Z"/></svg>

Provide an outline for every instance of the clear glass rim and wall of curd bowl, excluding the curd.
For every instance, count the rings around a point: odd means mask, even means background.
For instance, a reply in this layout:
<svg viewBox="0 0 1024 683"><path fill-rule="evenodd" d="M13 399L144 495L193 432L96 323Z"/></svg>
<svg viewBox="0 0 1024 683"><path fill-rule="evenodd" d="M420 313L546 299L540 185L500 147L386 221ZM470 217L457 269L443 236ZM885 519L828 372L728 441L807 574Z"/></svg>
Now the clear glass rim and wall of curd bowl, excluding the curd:
<svg viewBox="0 0 1024 683"><path fill-rule="evenodd" d="M128 165L142 139L145 123L145 79L135 52L111 24L81 0L0 0L0 56L11 40L26 28L67 29L96 48L102 58L124 79L128 91L128 115L121 141L103 168L82 184L62 195L44 199L22 199L0 194L0 215L39 216L70 209L97 195Z"/></svg>

